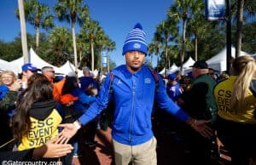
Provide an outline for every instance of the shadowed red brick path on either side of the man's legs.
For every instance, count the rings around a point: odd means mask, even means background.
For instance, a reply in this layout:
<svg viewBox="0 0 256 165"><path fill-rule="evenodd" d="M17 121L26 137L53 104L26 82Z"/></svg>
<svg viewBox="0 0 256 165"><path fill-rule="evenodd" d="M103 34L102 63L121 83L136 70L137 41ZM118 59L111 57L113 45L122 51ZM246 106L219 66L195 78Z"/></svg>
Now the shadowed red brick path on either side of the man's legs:
<svg viewBox="0 0 256 165"><path fill-rule="evenodd" d="M96 149L82 148L82 156L74 157L75 165L113 165L113 148L111 145L111 129L98 130L96 134ZM171 138L171 134L160 131L157 147L158 165L186 165L183 157L182 144Z"/></svg>

